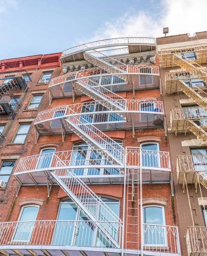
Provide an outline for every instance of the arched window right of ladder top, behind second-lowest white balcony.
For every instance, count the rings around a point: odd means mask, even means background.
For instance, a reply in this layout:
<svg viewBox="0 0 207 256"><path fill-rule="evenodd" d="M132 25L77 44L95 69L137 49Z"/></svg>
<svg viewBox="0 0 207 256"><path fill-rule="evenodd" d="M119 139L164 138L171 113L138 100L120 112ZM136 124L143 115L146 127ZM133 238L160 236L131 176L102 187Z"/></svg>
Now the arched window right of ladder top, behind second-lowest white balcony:
<svg viewBox="0 0 207 256"><path fill-rule="evenodd" d="M158 143L142 143L142 165L160 167L160 154Z"/></svg>

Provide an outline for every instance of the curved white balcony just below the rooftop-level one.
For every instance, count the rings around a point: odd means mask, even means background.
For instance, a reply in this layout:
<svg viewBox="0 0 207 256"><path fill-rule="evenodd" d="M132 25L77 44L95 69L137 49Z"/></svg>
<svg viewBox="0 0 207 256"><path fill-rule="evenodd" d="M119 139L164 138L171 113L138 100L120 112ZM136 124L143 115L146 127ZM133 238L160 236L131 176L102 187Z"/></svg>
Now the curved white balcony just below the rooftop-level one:
<svg viewBox="0 0 207 256"><path fill-rule="evenodd" d="M108 67L107 72L103 67L97 67L56 77L49 83L51 98L84 95L77 88L78 81L83 79L87 84L99 84L113 92L159 88L158 66L120 64L121 66ZM115 68L122 70L121 75L114 71Z"/></svg>

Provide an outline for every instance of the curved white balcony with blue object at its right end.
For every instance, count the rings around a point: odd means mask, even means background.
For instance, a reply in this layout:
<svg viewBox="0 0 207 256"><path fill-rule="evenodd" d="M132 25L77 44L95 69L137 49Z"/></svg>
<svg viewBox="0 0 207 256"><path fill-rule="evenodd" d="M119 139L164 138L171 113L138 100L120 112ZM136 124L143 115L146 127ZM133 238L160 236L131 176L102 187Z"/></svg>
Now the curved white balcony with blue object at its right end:
<svg viewBox="0 0 207 256"><path fill-rule="evenodd" d="M111 105L114 108L110 110ZM71 133L66 119L72 116L76 116L77 125L89 122L101 131L138 129L162 127L164 109L162 102L158 101L111 100L78 103L42 111L37 114L34 125L39 135Z"/></svg>

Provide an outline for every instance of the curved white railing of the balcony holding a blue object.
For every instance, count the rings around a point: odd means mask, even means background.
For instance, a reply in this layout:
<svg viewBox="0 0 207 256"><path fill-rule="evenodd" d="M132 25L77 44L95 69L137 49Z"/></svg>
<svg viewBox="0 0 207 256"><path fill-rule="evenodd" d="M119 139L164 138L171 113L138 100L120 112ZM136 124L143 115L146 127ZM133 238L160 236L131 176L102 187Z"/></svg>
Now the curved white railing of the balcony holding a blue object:
<svg viewBox="0 0 207 256"><path fill-rule="evenodd" d="M98 104L98 111L95 111L95 108ZM147 100L110 100L108 101L98 101L98 102L87 102L87 103L77 103L73 105L66 105L57 108L51 108L45 111L41 111L37 114L35 119L35 124L38 122L44 122L49 120L55 120L60 118L66 118L68 116L78 116L78 115L90 115L93 113L100 114L105 111L106 113L111 113L109 109L111 109L111 105L114 105L113 113L154 113L154 114L163 114L163 102L159 101L147 101ZM125 110L120 110L119 105L125 105ZM146 106L148 108L147 111L142 110L142 107ZM145 108L143 108L145 109ZM92 110L91 112L87 112L88 110ZM75 112L75 113L74 113Z"/></svg>

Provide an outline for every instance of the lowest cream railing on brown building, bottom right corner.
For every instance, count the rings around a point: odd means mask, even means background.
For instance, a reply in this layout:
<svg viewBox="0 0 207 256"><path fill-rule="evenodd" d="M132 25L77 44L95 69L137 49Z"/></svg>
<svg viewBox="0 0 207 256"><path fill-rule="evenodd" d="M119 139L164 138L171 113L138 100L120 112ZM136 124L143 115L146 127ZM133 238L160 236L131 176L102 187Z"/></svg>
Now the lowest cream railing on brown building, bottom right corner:
<svg viewBox="0 0 207 256"><path fill-rule="evenodd" d="M188 227L186 241L188 256L207 255L207 227Z"/></svg>

